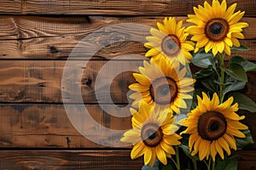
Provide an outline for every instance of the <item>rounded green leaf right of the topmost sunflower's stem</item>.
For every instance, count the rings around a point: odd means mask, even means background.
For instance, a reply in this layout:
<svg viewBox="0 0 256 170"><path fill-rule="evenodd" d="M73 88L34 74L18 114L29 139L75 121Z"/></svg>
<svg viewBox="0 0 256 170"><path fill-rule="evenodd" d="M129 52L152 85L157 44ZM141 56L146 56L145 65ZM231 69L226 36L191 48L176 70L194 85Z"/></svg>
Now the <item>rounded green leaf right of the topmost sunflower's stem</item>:
<svg viewBox="0 0 256 170"><path fill-rule="evenodd" d="M238 65L236 63L232 63L229 67L229 69L224 68L224 71L230 75L230 77L236 78L236 80L239 80L241 82L247 82L247 73L242 68L241 65Z"/></svg>

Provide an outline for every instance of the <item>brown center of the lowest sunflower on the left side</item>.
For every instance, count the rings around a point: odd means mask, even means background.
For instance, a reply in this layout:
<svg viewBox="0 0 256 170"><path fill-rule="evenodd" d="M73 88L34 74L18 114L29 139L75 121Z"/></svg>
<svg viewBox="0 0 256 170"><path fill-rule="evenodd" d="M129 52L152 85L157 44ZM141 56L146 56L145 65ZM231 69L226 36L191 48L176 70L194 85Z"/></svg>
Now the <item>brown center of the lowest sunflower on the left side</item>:
<svg viewBox="0 0 256 170"><path fill-rule="evenodd" d="M149 122L143 126L141 138L148 147L155 147L163 139L162 129L156 123Z"/></svg>

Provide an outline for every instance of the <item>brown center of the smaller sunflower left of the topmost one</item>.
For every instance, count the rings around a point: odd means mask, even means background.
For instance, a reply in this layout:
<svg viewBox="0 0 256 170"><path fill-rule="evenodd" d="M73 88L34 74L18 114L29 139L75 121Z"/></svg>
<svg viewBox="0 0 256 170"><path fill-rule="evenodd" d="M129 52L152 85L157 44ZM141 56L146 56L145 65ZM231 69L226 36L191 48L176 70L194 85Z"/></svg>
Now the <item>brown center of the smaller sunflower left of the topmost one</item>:
<svg viewBox="0 0 256 170"><path fill-rule="evenodd" d="M169 57L176 56L180 52L181 42L179 38L174 34L169 34L164 37L161 48L164 54Z"/></svg>

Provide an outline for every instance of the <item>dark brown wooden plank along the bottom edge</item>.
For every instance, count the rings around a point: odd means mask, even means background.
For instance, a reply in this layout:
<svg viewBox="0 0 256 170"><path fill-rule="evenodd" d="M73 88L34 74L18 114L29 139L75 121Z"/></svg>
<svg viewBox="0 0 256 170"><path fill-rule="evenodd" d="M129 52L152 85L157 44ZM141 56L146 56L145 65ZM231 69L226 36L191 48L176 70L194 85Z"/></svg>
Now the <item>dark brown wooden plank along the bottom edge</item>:
<svg viewBox="0 0 256 170"><path fill-rule="evenodd" d="M131 169L143 167L143 158L131 160L130 150L0 150L0 169Z"/></svg>

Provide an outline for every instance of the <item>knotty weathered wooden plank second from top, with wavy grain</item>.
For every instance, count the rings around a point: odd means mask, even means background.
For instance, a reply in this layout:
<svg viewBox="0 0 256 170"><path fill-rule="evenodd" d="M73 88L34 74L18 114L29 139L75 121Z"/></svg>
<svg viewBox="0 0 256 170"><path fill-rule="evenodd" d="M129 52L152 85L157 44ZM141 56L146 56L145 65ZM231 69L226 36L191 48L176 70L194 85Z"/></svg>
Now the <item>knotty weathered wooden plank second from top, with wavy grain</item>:
<svg viewBox="0 0 256 170"><path fill-rule="evenodd" d="M120 54L145 54L143 43L149 35L148 28L120 23L135 23L144 26L156 26L164 17L0 17L0 59L67 59L73 48L92 32L98 32L96 38L81 42L79 50L73 52L73 59L113 59ZM178 17L177 20L186 20ZM249 52L239 52L246 59L256 54L255 18L244 18L249 27L244 30L247 40L242 44L251 48ZM108 28L103 27L108 26ZM112 26L110 29L109 26ZM184 26L188 26L185 24ZM100 29L102 29L100 31ZM121 42L120 42L121 41ZM125 42L124 42L125 41ZM91 42L100 47L94 55ZM107 46L108 45L108 46ZM102 48L105 47L105 48Z"/></svg>

